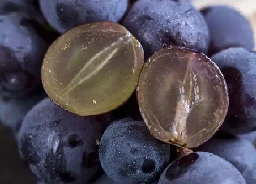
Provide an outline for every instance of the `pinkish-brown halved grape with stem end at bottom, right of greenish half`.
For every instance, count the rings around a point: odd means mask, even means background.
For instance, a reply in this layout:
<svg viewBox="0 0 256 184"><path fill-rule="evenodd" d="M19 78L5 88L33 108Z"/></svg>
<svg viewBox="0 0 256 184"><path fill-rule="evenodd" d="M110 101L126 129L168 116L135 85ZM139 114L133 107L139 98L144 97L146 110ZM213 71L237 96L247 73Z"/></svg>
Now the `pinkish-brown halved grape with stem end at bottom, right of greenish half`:
<svg viewBox="0 0 256 184"><path fill-rule="evenodd" d="M203 53L165 47L145 63L137 88L139 108L161 141L197 147L222 125L228 110L223 74Z"/></svg>

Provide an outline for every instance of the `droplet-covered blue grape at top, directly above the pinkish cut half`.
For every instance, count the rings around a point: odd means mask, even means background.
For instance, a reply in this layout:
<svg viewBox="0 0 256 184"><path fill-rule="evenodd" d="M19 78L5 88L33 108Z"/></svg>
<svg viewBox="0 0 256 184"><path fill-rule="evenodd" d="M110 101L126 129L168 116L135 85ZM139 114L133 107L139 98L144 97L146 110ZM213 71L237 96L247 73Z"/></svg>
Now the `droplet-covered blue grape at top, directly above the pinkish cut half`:
<svg viewBox="0 0 256 184"><path fill-rule="evenodd" d="M128 11L123 25L141 42L146 58L169 45L208 51L207 24L190 3L138 0Z"/></svg>

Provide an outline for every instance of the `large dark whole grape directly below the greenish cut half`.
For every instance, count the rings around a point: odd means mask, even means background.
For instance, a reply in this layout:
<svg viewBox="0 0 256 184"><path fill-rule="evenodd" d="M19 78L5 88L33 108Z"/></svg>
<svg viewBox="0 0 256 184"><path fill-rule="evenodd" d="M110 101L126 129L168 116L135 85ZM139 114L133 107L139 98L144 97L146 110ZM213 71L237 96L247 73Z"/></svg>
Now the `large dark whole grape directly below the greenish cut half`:
<svg viewBox="0 0 256 184"><path fill-rule="evenodd" d="M23 119L18 135L21 158L42 182L87 182L100 169L100 128L93 116L76 116L46 98Z"/></svg>

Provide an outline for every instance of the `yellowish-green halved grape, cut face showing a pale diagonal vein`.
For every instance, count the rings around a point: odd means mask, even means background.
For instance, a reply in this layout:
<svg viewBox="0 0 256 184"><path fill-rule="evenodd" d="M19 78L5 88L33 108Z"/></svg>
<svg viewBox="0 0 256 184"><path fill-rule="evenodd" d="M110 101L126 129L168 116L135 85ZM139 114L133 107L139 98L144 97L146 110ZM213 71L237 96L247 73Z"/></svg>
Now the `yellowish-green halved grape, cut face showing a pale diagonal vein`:
<svg viewBox="0 0 256 184"><path fill-rule="evenodd" d="M108 21L77 26L49 47L43 87L59 106L80 116L122 105L136 88L144 64L141 44Z"/></svg>

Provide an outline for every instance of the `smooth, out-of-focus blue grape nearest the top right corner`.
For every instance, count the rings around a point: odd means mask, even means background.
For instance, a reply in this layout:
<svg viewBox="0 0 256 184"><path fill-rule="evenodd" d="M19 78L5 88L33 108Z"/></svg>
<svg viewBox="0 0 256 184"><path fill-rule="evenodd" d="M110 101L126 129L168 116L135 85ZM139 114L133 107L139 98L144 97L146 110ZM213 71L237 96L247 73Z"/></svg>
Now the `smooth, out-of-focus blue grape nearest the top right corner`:
<svg viewBox="0 0 256 184"><path fill-rule="evenodd" d="M253 30L250 22L240 12L229 6L209 6L201 12L211 35L209 54L229 47L253 49Z"/></svg>

